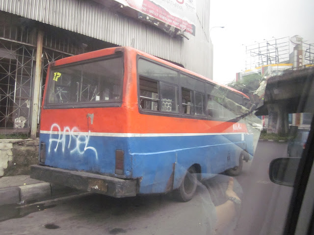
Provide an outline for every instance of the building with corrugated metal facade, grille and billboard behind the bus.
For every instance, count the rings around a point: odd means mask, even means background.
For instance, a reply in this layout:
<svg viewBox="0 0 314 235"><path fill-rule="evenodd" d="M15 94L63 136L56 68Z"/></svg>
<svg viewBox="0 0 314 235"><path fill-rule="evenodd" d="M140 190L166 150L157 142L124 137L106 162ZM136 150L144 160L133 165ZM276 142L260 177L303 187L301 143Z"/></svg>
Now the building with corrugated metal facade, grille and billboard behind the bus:
<svg viewBox="0 0 314 235"><path fill-rule="evenodd" d="M209 0L2 0L0 133L36 135L49 63L117 46L211 78Z"/></svg>

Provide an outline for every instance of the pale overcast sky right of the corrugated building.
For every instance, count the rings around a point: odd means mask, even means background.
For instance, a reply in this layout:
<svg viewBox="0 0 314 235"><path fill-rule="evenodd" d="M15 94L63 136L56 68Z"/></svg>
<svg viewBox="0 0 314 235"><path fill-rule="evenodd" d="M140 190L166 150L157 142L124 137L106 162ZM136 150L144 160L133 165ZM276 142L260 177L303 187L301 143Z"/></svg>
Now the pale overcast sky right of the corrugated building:
<svg viewBox="0 0 314 235"><path fill-rule="evenodd" d="M209 25L213 80L227 84L245 69L245 45L294 35L314 44L314 0L210 0Z"/></svg>

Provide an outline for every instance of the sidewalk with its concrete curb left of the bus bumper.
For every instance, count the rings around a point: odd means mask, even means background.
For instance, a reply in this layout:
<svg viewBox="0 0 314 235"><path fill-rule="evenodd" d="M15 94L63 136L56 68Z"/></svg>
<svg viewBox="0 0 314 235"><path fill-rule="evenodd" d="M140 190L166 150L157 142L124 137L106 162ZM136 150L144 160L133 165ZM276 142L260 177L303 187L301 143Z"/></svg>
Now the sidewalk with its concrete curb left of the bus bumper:
<svg viewBox="0 0 314 235"><path fill-rule="evenodd" d="M0 178L0 206L28 204L79 193L80 191L75 189L31 179L29 175Z"/></svg>

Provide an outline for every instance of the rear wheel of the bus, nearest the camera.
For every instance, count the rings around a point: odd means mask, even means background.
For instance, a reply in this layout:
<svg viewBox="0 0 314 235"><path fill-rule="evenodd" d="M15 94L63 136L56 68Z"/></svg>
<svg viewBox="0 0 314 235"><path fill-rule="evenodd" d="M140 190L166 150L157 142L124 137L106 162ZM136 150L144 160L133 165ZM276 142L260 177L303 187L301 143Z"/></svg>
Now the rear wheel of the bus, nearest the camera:
<svg viewBox="0 0 314 235"><path fill-rule="evenodd" d="M187 202L192 199L197 186L196 170L191 166L184 176L184 179L178 189L175 190L176 198L181 202Z"/></svg>

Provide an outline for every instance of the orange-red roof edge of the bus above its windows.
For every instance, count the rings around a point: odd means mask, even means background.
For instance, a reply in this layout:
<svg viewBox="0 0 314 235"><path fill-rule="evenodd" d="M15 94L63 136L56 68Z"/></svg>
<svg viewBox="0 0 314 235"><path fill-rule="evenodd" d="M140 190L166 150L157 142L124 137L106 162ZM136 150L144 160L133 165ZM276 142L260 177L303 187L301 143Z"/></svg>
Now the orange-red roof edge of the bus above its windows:
<svg viewBox="0 0 314 235"><path fill-rule="evenodd" d="M54 62L54 65L55 66L58 66L58 65L64 65L64 64L68 64L68 63L74 63L74 62L78 62L78 61L82 61L82 60L86 60L86 59L92 59L92 58L95 58L95 57L101 57L101 56L105 56L105 55L109 55L109 54L113 54L115 53L116 51L135 51L137 54L139 55L142 55L142 56L145 56L147 58L150 58L152 60L155 60L157 62L160 62L160 63L163 63L169 67L172 67L172 68L175 68L175 69L178 69L180 71L184 71L186 73L189 73L191 75L194 75L196 77L199 77L201 79L204 79L204 80L207 80L209 81L210 83L212 84L215 84L217 86L220 86L220 87L223 87L225 89L228 89L229 91L231 92L234 92L234 93L237 93L237 94L240 94L242 95L243 97L247 98L247 99L250 99L249 96L247 96L246 94L243 94L242 92L240 91L237 91L235 90L234 88L231 88L231 87L228 87L226 85L223 85L223 84L220 84L218 82L215 82L203 75L200 75L196 72L193 72L193 71L189 71L183 67L180 67L178 65L175 65L171 62L168 62L166 60L163 60L163 59L160 59L154 55L151 55L151 54L148 54L146 52L143 52L141 50L138 50L138 49L135 49L133 47L109 47L109 48L104 48L104 49L100 49L100 50L96 50L96 51L91 51L91 52L87 52L87 53L83 53L83 54L79 54L79 55L75 55L75 56L71 56L71 57L66 57L66 58L63 58L63 59L60 59L60 60L57 60Z"/></svg>

